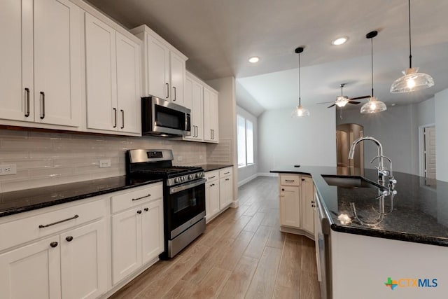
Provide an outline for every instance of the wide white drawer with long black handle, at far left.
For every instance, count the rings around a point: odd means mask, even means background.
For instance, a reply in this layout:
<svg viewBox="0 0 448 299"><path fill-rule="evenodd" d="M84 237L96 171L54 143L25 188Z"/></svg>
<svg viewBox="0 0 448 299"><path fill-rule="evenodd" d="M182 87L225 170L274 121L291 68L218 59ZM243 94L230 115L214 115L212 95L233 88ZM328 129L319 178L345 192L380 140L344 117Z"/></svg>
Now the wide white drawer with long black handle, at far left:
<svg viewBox="0 0 448 299"><path fill-rule="evenodd" d="M0 225L0 251L104 217L107 204L108 199L104 198L3 223Z"/></svg>

